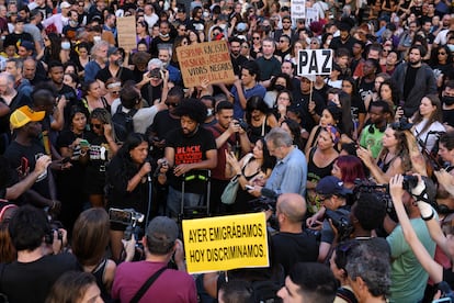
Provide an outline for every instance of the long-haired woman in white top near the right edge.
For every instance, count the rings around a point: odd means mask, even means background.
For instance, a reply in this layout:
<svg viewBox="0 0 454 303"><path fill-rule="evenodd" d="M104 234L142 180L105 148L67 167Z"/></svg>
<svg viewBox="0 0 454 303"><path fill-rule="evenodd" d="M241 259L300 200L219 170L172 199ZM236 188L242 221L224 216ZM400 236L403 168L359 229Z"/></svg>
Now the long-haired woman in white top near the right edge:
<svg viewBox="0 0 454 303"><path fill-rule="evenodd" d="M412 133L416 136L419 149L432 152L440 132L446 132L442 124L441 102L438 96L429 94L421 99L419 111L412 117L415 124Z"/></svg>

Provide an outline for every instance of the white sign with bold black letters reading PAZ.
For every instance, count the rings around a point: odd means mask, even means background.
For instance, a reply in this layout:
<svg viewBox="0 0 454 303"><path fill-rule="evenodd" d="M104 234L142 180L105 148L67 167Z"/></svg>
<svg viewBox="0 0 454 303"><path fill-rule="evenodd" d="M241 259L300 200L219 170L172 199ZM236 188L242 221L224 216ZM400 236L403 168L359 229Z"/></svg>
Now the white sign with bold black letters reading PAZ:
<svg viewBox="0 0 454 303"><path fill-rule="evenodd" d="M332 58L332 49L300 49L297 75L330 75Z"/></svg>

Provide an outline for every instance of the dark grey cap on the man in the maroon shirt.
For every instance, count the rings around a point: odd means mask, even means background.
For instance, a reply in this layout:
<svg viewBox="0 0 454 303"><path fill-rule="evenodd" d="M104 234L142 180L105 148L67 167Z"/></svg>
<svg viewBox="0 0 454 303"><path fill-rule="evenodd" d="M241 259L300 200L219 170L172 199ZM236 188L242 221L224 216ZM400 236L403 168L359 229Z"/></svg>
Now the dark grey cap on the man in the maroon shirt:
<svg viewBox="0 0 454 303"><path fill-rule="evenodd" d="M147 238L163 248L173 245L178 238L177 223L167 216L156 216L148 224Z"/></svg>

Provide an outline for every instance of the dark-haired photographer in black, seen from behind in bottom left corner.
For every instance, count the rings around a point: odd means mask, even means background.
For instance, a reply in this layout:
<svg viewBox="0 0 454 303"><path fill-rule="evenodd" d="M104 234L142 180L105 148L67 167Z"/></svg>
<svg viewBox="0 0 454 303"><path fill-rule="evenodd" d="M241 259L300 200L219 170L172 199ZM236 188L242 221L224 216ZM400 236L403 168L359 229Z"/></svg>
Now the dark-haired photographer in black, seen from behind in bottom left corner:
<svg viewBox="0 0 454 303"><path fill-rule="evenodd" d="M43 210L18 209L9 223L18 259L1 265L1 290L9 302L45 302L54 282L66 271L80 270L76 257L61 252L66 231L53 228Z"/></svg>

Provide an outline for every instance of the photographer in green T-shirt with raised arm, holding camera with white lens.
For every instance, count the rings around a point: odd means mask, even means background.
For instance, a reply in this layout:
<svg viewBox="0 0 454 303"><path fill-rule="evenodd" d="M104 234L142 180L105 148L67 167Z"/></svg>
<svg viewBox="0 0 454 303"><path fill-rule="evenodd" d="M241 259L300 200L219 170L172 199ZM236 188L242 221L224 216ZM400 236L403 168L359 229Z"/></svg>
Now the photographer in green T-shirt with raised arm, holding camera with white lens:
<svg viewBox="0 0 454 303"><path fill-rule="evenodd" d="M425 225L429 225L429 221L433 221L429 226L436 225L440 233L441 229L438 220L432 220L435 217L432 206L421 202L421 200L430 201L427 192L424 192L425 184L421 177L418 177L417 184L411 182L410 186L405 186L404 180L404 176L397 175L389 181L389 192L399 218L399 224L386 238L394 259L391 263L390 302L413 303L420 302L424 295L429 277L424 268L429 269L428 265L434 263L435 243L431 239L431 234L429 234ZM443 234L441 233L441 235ZM418 249L410 247L410 245L413 246L413 243L418 243ZM446 245L443 245L442 248L449 252ZM421 262L419 262L418 258L421 257L421 254L424 256L424 261L420 259ZM442 273L441 266L440 273ZM441 281L441 274L433 278L434 282Z"/></svg>

